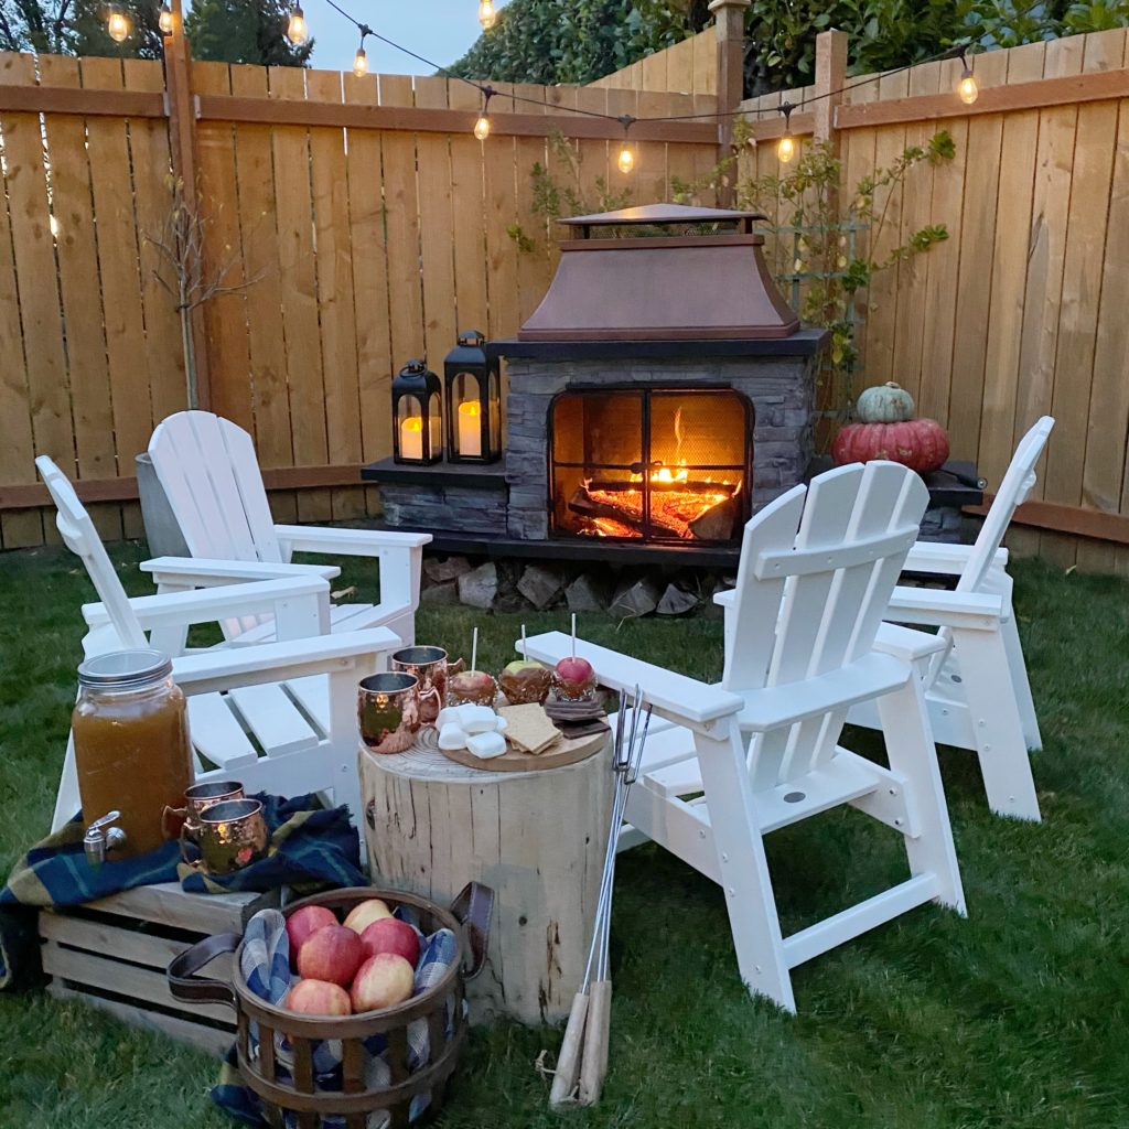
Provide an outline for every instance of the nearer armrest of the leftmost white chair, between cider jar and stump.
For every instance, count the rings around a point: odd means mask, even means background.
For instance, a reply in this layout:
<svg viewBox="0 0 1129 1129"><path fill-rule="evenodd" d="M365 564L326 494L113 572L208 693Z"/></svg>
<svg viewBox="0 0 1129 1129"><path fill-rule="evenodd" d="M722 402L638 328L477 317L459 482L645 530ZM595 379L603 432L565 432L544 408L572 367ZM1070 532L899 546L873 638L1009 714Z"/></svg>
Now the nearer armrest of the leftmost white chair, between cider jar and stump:
<svg viewBox="0 0 1129 1129"><path fill-rule="evenodd" d="M296 639L290 642L264 642L259 647L234 647L187 655L173 660L173 677L185 693L201 694L281 682L307 674L332 673L352 659L376 657L395 650L400 637L387 628L341 631L335 636Z"/></svg>

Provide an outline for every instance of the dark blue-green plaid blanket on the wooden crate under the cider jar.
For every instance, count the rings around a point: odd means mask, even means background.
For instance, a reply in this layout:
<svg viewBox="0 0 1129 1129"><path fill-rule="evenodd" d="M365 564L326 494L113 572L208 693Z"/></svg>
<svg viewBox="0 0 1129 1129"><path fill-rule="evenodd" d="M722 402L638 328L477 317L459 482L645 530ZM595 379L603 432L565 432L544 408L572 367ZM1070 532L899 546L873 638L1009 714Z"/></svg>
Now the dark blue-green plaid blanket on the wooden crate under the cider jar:
<svg viewBox="0 0 1129 1129"><path fill-rule="evenodd" d="M360 840L348 807L323 808L313 795L283 799L260 793L255 799L262 802L271 832L268 855L222 877L209 877L182 863L175 842L139 858L91 867L82 850L81 815L36 843L0 890L0 990L34 978L37 907L80 905L134 886L177 879L184 890L199 894L365 885Z"/></svg>

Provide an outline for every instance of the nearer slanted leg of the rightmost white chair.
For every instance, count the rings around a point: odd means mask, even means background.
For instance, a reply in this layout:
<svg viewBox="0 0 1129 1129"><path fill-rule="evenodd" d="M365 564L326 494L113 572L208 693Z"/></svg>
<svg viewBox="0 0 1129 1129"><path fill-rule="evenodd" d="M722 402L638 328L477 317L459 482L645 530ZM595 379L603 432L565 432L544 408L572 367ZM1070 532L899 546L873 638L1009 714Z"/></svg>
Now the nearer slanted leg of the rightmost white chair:
<svg viewBox="0 0 1129 1129"><path fill-rule="evenodd" d="M1039 798L1004 636L962 630L954 633L954 645L988 806L997 815L1038 821Z"/></svg>

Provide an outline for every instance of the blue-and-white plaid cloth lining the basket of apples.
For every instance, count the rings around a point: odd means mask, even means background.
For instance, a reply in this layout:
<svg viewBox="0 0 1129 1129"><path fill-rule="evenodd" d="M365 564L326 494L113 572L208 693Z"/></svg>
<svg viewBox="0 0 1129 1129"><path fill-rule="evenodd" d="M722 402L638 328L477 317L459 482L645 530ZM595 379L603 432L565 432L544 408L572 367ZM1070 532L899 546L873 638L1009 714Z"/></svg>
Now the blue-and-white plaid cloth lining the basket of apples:
<svg viewBox="0 0 1129 1129"><path fill-rule="evenodd" d="M413 912L404 905L395 909L394 916L406 921L420 938L420 959L415 966L415 995L434 987L447 970L458 960L458 938L449 929L439 929L425 937ZM286 933L286 919L278 910L260 910L248 922L243 935L243 952L239 970L247 987L269 1004L280 1004L290 990L290 943ZM259 1053L259 1025L251 1024L250 1048L252 1058ZM452 1016L447 1015L447 1036L452 1034ZM387 1043L383 1035L365 1040L368 1059L365 1065L365 1080L371 1088L387 1086L392 1071L385 1061ZM341 1089L341 1043L325 1040L313 1047L314 1085L317 1089L333 1092ZM430 1054L430 1036L426 1019L417 1019L408 1025L408 1068L410 1071L426 1066ZM294 1049L285 1034L274 1034L274 1059L279 1077L289 1080L288 1068L294 1062ZM259 1096L243 1085L239 1077L236 1048L233 1047L224 1059L218 1084L212 1088L212 1101L233 1118L250 1126L268 1126ZM415 1120L428 1106L429 1094L418 1095L411 1104L410 1118ZM288 1115L286 1123L294 1123ZM390 1120L386 1111L369 1115L369 1129L380 1129ZM323 1129L344 1126L343 1118L325 1117Z"/></svg>

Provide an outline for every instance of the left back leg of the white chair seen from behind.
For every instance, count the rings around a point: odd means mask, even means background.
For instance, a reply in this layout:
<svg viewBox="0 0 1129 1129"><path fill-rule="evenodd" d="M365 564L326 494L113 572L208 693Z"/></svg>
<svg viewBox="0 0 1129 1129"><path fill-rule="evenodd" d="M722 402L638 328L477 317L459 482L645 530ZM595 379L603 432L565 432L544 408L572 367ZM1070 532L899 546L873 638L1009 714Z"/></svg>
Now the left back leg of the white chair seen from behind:
<svg viewBox="0 0 1129 1129"><path fill-rule="evenodd" d="M717 736L697 734L721 890L737 953L741 979L752 992L768 996L795 1013L796 998L785 957L764 841L756 826L745 749L734 720Z"/></svg>

